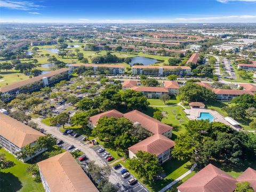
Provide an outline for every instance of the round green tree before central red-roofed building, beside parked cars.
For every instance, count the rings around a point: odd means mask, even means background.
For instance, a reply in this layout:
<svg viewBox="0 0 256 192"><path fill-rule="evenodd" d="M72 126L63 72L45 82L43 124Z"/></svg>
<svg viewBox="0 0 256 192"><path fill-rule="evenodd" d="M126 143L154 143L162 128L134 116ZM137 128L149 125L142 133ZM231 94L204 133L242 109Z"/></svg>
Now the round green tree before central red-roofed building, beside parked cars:
<svg viewBox="0 0 256 192"><path fill-rule="evenodd" d="M162 166L158 163L156 155L147 153L146 151L138 151L136 157L129 159L129 168L138 174L139 178L147 181L154 181Z"/></svg>

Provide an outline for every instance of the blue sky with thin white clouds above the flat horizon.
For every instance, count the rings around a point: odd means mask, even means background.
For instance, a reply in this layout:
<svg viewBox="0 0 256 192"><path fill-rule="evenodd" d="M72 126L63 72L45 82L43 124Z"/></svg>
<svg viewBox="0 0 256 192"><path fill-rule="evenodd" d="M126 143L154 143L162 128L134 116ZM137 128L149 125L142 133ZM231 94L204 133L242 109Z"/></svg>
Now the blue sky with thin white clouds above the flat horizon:
<svg viewBox="0 0 256 192"><path fill-rule="evenodd" d="M256 22L256 0L0 0L0 22Z"/></svg>

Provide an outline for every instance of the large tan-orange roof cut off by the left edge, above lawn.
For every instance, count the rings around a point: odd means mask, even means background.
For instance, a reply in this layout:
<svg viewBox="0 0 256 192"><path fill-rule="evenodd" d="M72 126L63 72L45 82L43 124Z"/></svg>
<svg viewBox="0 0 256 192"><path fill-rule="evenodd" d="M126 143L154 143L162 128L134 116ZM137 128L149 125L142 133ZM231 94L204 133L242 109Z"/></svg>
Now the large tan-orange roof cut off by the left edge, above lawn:
<svg viewBox="0 0 256 192"><path fill-rule="evenodd" d="M0 135L19 148L35 142L43 133L34 130L16 119L0 113Z"/></svg>

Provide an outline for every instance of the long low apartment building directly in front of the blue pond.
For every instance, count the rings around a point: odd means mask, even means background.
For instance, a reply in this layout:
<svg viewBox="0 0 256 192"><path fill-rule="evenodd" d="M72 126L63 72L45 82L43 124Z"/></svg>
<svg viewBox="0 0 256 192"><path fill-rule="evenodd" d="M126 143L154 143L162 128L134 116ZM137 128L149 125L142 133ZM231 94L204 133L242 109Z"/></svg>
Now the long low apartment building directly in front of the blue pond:
<svg viewBox="0 0 256 192"><path fill-rule="evenodd" d="M132 66L133 75L154 75L154 76L167 76L167 75L189 75L191 68L187 66Z"/></svg>

